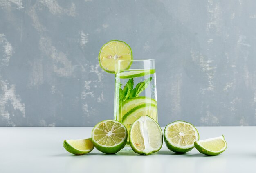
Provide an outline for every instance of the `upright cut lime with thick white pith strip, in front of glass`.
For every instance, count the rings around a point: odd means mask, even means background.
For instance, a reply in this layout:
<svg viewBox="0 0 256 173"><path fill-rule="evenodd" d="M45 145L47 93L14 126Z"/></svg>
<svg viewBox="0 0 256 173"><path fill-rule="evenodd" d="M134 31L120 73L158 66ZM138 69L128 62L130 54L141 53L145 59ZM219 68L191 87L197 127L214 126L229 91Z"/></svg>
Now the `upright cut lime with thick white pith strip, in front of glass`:
<svg viewBox="0 0 256 173"><path fill-rule="evenodd" d="M131 126L129 141L135 153L150 155L163 145L162 129L149 116L141 116Z"/></svg>

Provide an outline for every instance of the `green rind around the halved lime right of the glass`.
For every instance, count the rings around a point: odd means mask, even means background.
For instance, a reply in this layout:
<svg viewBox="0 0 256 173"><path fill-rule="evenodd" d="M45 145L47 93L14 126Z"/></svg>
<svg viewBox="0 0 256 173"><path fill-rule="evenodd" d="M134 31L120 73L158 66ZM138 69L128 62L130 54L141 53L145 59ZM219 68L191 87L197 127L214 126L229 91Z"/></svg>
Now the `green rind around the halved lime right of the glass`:
<svg viewBox="0 0 256 173"><path fill-rule="evenodd" d="M183 122L183 123L187 123L187 124L191 125L191 126L193 127L193 129L194 129L194 130L197 132L197 134L198 134L198 139L196 139L196 140L199 140L199 133L198 133L198 130L195 128L195 126L193 126L191 123L188 123L188 122L186 122L186 121L174 121L174 122L172 122L172 123L166 125L166 127L165 127L165 129L164 129L164 143L166 144L166 147L167 147L169 150L171 150L171 151L173 151L173 152L175 152L175 153L186 153L186 152L188 152L188 151L191 151L195 146L193 145L193 146L191 146L191 147L184 147L184 148L177 147L177 146L171 144L171 142L169 142L168 137L167 137L167 135L166 135L166 134L167 134L167 129L168 129L168 127L169 127L170 125L172 125L173 123L178 123L178 122Z"/></svg>

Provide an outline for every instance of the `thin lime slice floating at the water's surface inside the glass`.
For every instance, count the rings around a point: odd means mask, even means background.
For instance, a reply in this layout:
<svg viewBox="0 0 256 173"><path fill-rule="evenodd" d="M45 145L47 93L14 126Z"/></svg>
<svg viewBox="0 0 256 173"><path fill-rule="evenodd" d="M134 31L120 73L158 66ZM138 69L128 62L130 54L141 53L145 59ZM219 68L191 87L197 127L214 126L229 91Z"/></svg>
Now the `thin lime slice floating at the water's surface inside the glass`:
<svg viewBox="0 0 256 173"><path fill-rule="evenodd" d="M129 71L129 72L118 73L117 76L119 78L121 78L121 79L130 79L130 78L146 76L148 74L154 74L154 73L155 73L155 69L150 69L150 70L134 70L134 71Z"/></svg>

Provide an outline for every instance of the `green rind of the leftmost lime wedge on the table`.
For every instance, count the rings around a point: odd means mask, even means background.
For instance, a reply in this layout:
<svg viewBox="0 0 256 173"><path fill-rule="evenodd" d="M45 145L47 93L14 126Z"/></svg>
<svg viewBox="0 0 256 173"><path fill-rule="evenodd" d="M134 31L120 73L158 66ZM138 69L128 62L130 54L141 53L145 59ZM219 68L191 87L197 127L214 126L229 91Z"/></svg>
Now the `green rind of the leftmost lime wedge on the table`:
<svg viewBox="0 0 256 173"><path fill-rule="evenodd" d="M64 140L63 142L63 147L70 153L74 154L74 155L83 155L83 154L87 154L90 153L93 149L94 149L94 145L92 144L92 140L91 138L88 139L81 139L81 140L87 140L87 142L91 142L90 145L92 145L92 147L88 150L80 150L80 149L76 149L75 147L73 147L72 145L70 145L70 143L68 142L69 140Z"/></svg>

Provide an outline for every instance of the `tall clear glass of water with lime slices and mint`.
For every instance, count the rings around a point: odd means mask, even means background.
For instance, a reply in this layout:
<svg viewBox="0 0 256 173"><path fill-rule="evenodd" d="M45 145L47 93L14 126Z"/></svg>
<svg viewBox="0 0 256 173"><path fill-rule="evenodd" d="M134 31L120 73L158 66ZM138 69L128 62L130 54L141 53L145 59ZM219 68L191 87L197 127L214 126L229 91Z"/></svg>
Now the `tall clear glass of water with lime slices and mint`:
<svg viewBox="0 0 256 173"><path fill-rule="evenodd" d="M130 68L123 70L127 66ZM131 124L140 116L148 115L157 121L155 60L119 60L115 69L114 119L126 126L128 134ZM130 149L128 141L123 150Z"/></svg>

